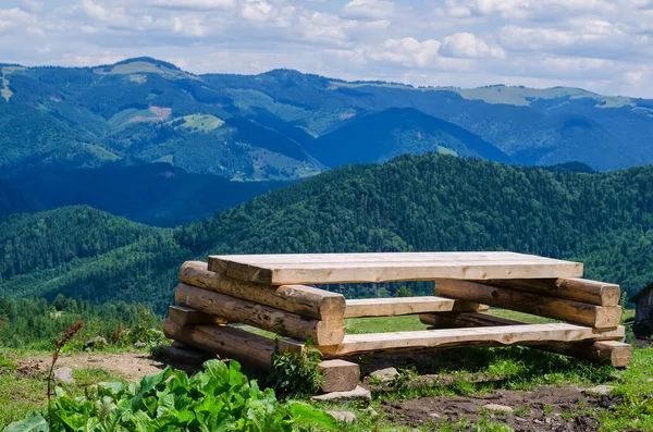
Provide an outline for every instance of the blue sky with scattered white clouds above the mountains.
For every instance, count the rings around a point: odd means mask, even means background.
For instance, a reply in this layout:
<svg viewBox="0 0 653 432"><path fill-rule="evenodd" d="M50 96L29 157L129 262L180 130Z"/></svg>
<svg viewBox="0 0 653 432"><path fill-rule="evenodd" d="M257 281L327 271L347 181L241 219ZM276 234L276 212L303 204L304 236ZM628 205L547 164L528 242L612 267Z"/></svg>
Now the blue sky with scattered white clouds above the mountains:
<svg viewBox="0 0 653 432"><path fill-rule="evenodd" d="M653 97L653 0L0 0L0 62Z"/></svg>

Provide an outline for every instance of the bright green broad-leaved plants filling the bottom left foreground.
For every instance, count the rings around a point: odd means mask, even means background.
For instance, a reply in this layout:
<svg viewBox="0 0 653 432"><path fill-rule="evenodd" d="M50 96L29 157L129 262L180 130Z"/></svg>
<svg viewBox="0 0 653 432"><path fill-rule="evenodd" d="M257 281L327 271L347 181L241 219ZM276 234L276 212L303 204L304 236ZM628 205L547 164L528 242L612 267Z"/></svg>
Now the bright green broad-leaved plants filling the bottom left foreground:
<svg viewBox="0 0 653 432"><path fill-rule="evenodd" d="M274 391L261 391L256 381L209 360L204 371L188 377L167 368L139 383L100 385L83 397L61 388L45 416L32 415L10 424L9 432L62 431L224 431L291 432L315 427L334 430L335 419L300 403L280 404Z"/></svg>

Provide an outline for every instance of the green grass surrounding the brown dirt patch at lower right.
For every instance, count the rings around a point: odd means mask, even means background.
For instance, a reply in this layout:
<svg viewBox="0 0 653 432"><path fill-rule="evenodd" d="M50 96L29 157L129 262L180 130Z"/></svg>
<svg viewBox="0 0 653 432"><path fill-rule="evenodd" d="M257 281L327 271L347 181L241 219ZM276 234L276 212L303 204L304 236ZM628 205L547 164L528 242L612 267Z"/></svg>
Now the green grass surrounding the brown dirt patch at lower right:
<svg viewBox="0 0 653 432"><path fill-rule="evenodd" d="M458 351L456 351L458 353ZM454 354L454 351L452 351ZM615 395L623 402L615 402L612 410L595 411L582 404L571 410L562 412L565 419L591 416L601 421L602 430L616 431L653 431L653 348L636 349L630 369L620 371L623 382L614 381L611 375L615 370L611 367L597 367L581 360L575 360L555 354L542 353L529 348L485 348L464 350L448 357L451 365L444 362L443 373L451 374L454 380L447 384L427 383L421 385L419 378L412 378L411 385L403 385L401 390L373 391L370 408L346 405L323 404L324 409L353 411L358 422L343 423L341 432L367 431L510 431L505 424L494 421L491 416L483 416L478 421L468 419L439 420L418 427L401 427L391 421L383 410L384 405L420 397L457 397L484 395L497 390L532 390L542 385L580 385L609 384L615 386ZM485 377L484 382L472 382ZM515 416L528 416L529 407L514 407ZM543 407L546 415L554 412L554 407Z"/></svg>

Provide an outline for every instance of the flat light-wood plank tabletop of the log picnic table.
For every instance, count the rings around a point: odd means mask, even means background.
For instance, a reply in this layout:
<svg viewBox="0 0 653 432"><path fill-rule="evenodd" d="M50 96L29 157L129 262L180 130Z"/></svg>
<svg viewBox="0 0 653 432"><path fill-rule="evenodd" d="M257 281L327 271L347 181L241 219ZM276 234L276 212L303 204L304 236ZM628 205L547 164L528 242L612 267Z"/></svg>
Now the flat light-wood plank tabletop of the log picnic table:
<svg viewBox="0 0 653 432"><path fill-rule="evenodd" d="M209 270L267 285L582 275L578 262L513 252L210 256Z"/></svg>

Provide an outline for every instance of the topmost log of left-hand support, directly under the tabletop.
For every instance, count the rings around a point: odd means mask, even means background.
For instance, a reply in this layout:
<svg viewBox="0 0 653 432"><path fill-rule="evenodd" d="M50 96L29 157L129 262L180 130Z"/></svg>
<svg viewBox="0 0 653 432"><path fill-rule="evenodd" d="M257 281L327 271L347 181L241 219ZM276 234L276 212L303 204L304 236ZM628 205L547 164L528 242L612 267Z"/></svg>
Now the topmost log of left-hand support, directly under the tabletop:
<svg viewBox="0 0 653 432"><path fill-rule="evenodd" d="M185 262L180 271L180 279L188 285L318 320L342 319L345 313L345 297L342 294L305 285L271 287L237 281L209 271L207 263L201 261Z"/></svg>

